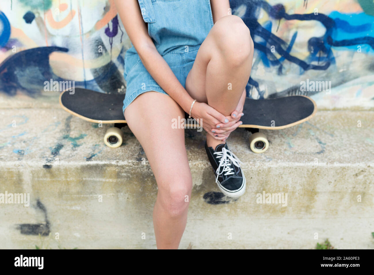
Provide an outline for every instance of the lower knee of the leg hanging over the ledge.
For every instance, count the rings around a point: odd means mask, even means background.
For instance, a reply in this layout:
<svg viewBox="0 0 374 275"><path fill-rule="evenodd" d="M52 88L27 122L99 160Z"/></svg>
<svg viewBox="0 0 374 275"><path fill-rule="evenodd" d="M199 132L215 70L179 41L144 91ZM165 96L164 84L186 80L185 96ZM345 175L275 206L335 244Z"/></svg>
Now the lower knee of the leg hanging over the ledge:
<svg viewBox="0 0 374 275"><path fill-rule="evenodd" d="M191 197L192 179L171 180L159 184L157 200L170 217L178 218L186 214Z"/></svg>

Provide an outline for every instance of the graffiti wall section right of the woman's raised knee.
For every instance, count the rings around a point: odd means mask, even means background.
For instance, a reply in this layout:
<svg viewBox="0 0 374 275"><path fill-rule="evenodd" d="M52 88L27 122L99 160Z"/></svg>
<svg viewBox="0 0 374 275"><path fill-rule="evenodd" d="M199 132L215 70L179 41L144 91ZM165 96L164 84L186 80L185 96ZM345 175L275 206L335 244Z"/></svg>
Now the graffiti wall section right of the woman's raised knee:
<svg viewBox="0 0 374 275"><path fill-rule="evenodd" d="M373 107L373 0L233 0L251 30L253 98L312 96L319 107Z"/></svg>

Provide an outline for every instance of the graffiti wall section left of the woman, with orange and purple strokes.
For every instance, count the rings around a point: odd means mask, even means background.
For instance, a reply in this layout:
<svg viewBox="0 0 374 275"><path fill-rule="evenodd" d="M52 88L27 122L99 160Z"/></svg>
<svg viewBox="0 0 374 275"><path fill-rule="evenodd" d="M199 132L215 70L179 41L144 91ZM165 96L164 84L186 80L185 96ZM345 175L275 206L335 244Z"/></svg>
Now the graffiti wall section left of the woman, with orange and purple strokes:
<svg viewBox="0 0 374 275"><path fill-rule="evenodd" d="M113 0L0 3L1 92L37 97L50 79L124 92L123 57L130 42Z"/></svg>

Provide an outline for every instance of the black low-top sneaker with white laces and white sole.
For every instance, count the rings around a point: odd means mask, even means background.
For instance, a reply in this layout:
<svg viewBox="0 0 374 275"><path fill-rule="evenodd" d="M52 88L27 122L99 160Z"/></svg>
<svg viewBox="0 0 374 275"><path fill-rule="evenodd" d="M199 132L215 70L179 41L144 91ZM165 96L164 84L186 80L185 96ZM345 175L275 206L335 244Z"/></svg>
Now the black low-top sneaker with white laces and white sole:
<svg viewBox="0 0 374 275"><path fill-rule="evenodd" d="M237 198L245 192L245 177L240 169L239 159L229 150L227 143L219 144L215 150L208 147L205 150L216 175L215 182L226 196Z"/></svg>

